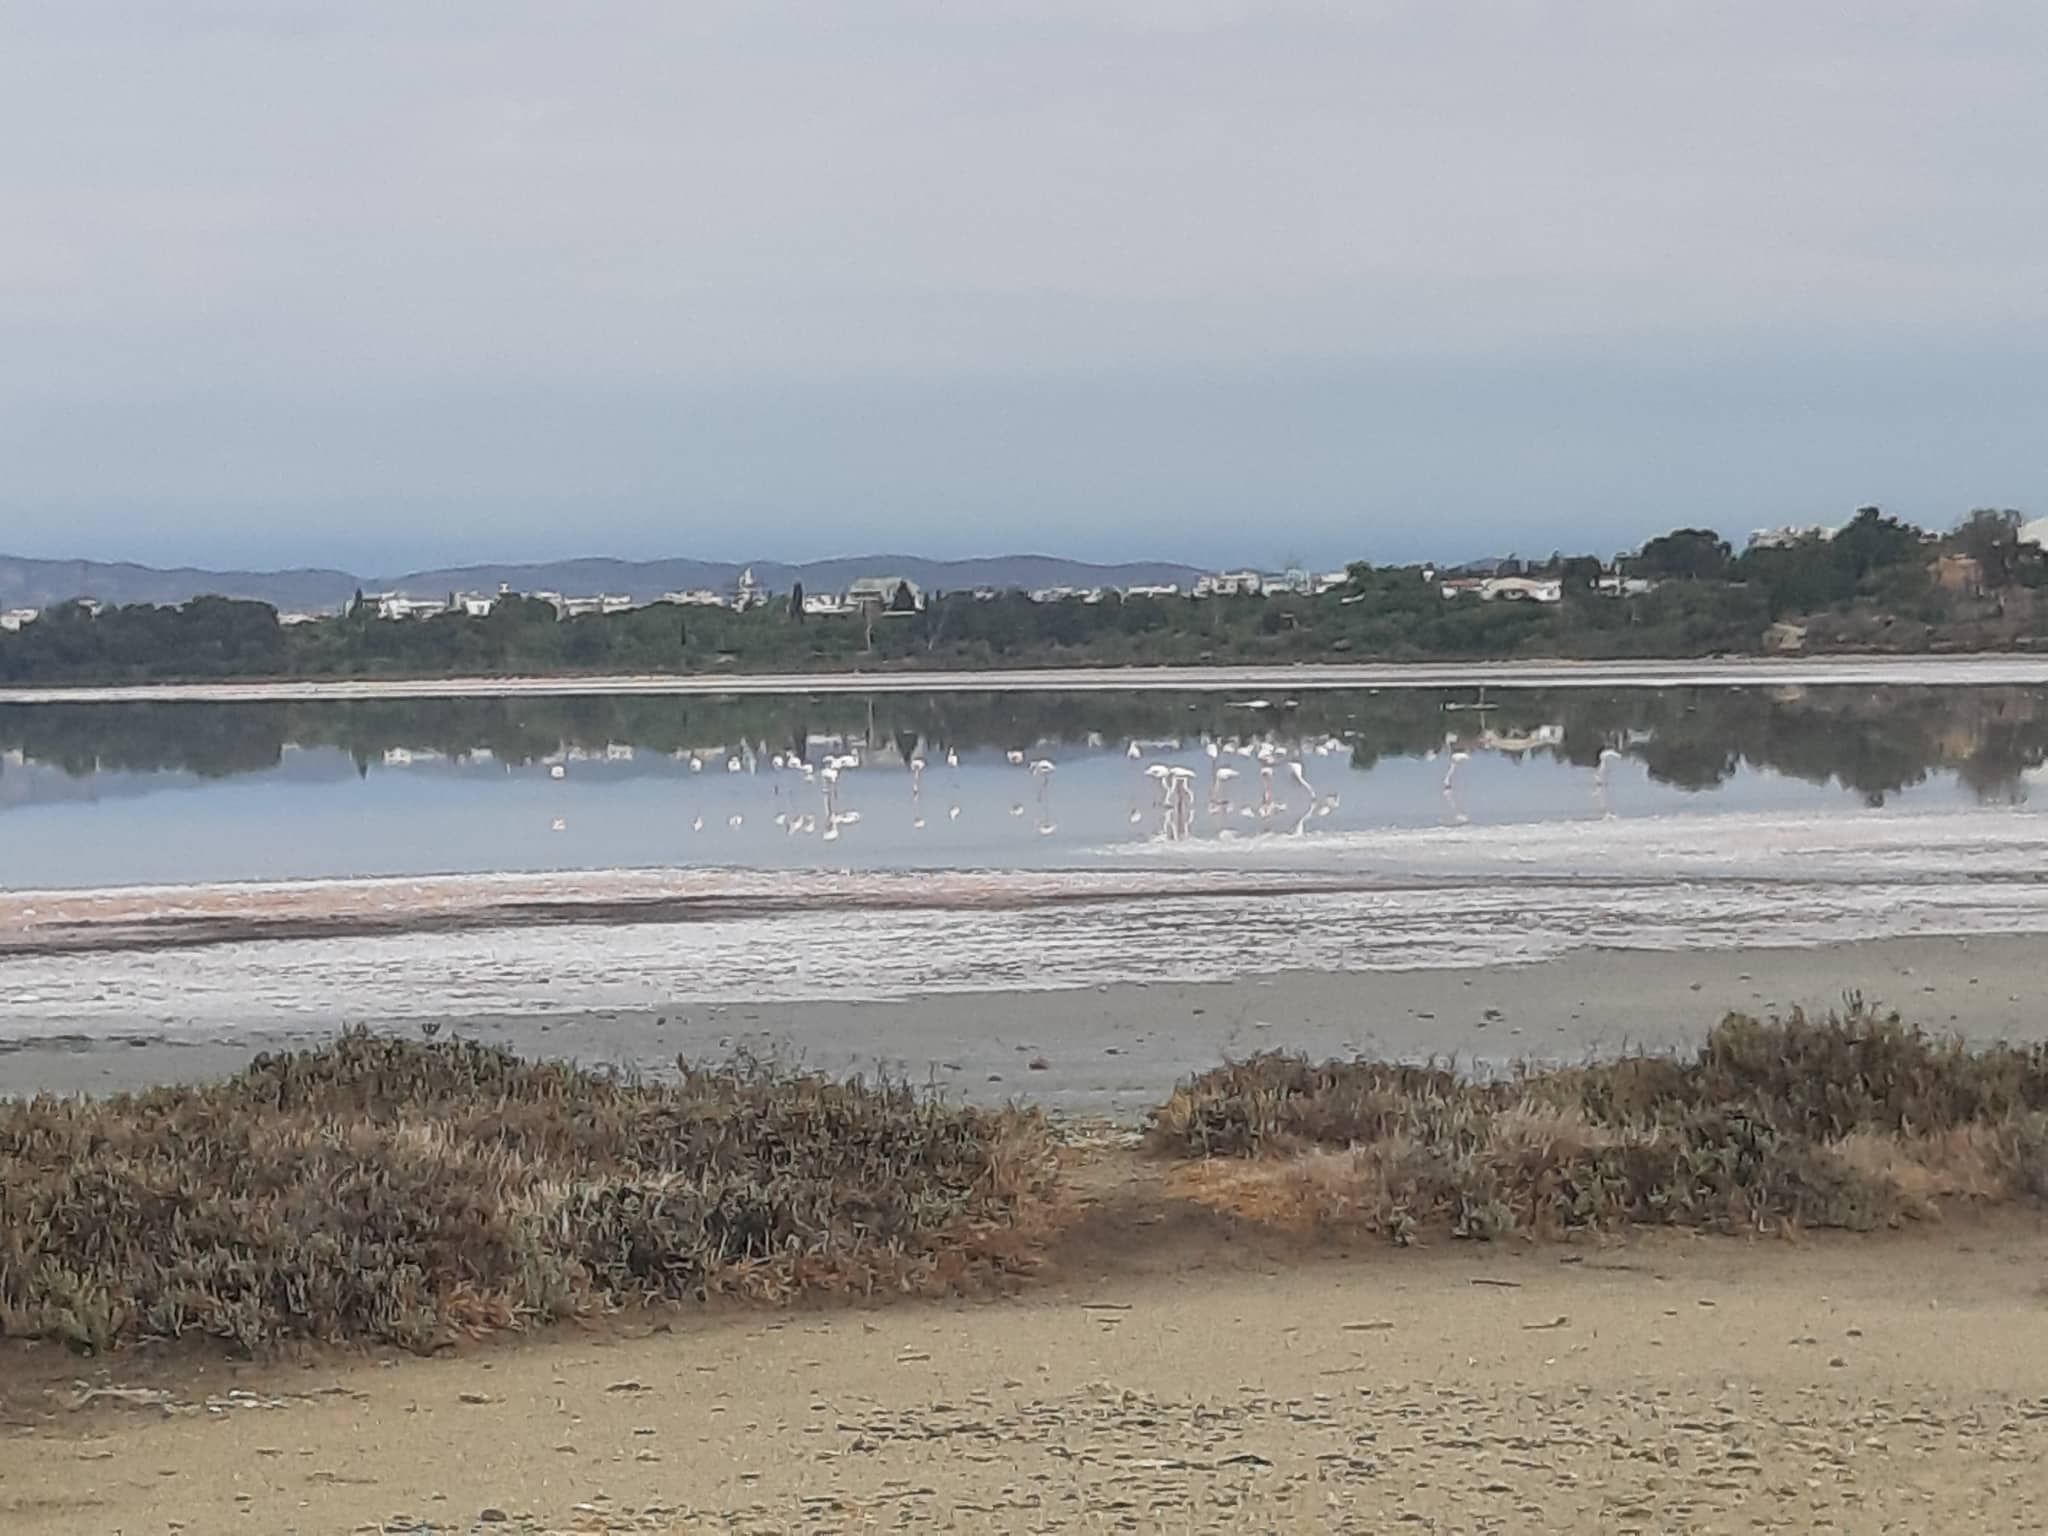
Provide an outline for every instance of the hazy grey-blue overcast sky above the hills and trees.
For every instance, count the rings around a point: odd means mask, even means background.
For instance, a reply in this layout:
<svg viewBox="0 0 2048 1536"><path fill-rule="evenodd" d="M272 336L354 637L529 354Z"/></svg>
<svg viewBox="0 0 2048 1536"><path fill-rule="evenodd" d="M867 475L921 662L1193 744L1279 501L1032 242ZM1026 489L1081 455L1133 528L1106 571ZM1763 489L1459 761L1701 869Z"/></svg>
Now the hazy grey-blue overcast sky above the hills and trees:
<svg viewBox="0 0 2048 1536"><path fill-rule="evenodd" d="M2040 0L0 0L0 553L2048 514Z"/></svg>

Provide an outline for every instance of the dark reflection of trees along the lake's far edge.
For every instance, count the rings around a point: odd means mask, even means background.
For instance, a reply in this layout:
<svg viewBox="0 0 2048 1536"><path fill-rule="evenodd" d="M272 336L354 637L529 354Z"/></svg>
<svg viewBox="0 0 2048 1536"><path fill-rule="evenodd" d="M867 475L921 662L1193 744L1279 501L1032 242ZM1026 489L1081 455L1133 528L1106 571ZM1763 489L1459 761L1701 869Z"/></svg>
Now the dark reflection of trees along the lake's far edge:
<svg viewBox="0 0 2048 1536"><path fill-rule="evenodd" d="M1448 702L1464 705L1446 711ZM1483 702L1483 709L1473 705ZM1550 756L1591 768L1604 748L1679 788L1712 788L1743 766L1837 782L1872 805L1956 772L1987 803L2017 803L2048 762L2048 690L2030 688L1567 688L1315 692L1268 709L1206 692L1147 694L823 694L346 700L319 705L0 707L0 750L68 774L180 770L225 776L274 768L287 743L332 748L360 768L403 748L530 764L563 750L682 754L803 750L813 735L926 752L1073 745L1092 735L1196 739L1343 737L1352 762L1419 756L1446 733L1466 743L1561 727Z"/></svg>

